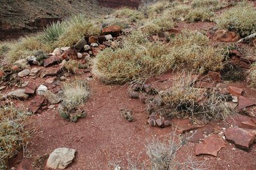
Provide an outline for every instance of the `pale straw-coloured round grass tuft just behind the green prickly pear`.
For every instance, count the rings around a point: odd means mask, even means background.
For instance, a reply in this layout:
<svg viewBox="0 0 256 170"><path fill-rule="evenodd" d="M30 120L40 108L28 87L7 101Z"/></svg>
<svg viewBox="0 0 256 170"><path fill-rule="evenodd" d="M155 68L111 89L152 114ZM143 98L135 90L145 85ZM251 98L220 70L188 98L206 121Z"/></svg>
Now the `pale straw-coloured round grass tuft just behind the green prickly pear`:
<svg viewBox="0 0 256 170"><path fill-rule="evenodd" d="M92 94L90 85L84 77L76 77L72 81L66 81L62 86L63 100L67 102L70 107L76 105L78 108L82 105ZM72 108L73 109L73 108Z"/></svg>

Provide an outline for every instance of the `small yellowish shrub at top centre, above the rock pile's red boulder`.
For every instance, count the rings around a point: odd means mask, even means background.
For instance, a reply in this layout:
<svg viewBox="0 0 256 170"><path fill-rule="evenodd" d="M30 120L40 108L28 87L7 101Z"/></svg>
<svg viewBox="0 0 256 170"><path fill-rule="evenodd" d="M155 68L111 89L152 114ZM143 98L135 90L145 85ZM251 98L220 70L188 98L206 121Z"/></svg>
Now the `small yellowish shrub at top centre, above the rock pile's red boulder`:
<svg viewBox="0 0 256 170"><path fill-rule="evenodd" d="M118 13L120 16L126 15L130 22L137 22L137 20L143 19L144 15L138 10L131 10L129 8L121 8L117 10L115 13Z"/></svg>

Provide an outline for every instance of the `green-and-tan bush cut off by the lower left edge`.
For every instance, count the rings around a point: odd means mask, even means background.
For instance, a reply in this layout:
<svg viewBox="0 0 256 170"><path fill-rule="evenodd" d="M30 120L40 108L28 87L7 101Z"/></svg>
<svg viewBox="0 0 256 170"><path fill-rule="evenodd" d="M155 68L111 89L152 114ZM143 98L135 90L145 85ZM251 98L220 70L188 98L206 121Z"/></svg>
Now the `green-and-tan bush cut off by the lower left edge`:
<svg viewBox="0 0 256 170"><path fill-rule="evenodd" d="M24 129L27 117L12 105L0 107L0 169L6 169L8 159L28 144L31 135Z"/></svg>

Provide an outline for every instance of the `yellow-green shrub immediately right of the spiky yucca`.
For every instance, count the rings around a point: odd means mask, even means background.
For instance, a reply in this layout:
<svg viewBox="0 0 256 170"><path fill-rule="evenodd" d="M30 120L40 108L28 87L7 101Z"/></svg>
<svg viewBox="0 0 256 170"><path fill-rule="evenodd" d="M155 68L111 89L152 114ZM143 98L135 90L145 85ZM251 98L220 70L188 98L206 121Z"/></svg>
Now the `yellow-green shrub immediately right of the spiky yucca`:
<svg viewBox="0 0 256 170"><path fill-rule="evenodd" d="M72 46L83 36L99 34L99 27L94 26L86 14L72 15L67 20L64 33L58 38L58 45L60 47Z"/></svg>

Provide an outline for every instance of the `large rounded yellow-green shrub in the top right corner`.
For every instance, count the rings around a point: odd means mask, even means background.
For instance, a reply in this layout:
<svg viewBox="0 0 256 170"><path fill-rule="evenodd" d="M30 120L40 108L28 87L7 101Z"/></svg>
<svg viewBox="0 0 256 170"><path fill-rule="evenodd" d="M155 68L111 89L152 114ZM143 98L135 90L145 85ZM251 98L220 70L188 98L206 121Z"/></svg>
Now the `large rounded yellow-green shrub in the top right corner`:
<svg viewBox="0 0 256 170"><path fill-rule="evenodd" d="M216 26L235 31L241 36L251 35L256 31L256 8L251 3L238 3L218 16Z"/></svg>

